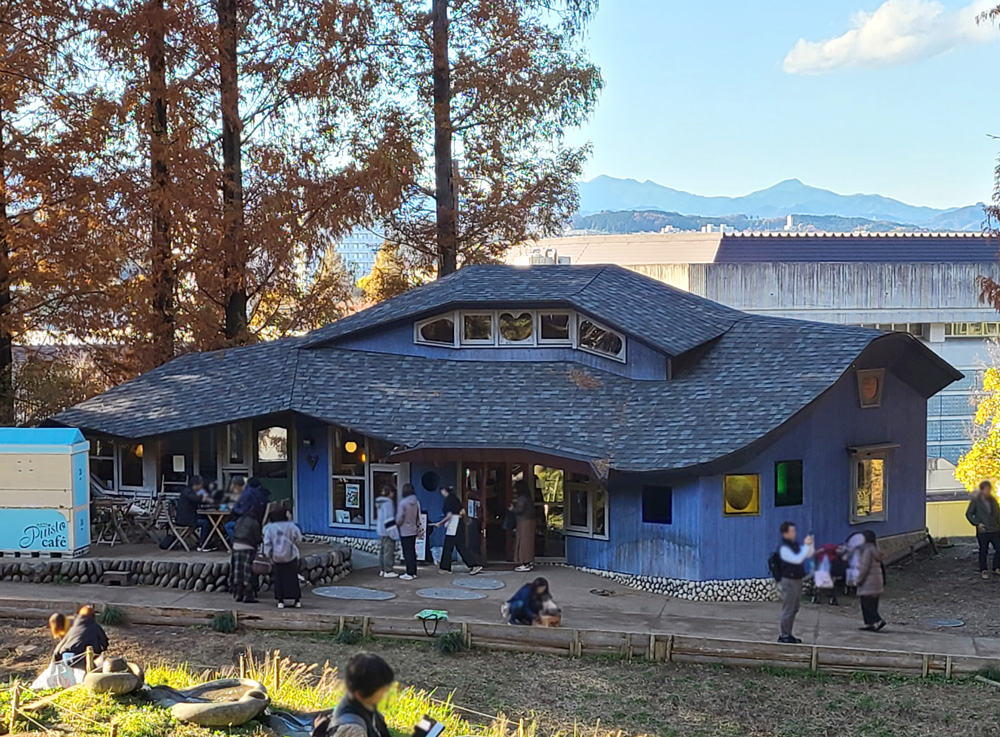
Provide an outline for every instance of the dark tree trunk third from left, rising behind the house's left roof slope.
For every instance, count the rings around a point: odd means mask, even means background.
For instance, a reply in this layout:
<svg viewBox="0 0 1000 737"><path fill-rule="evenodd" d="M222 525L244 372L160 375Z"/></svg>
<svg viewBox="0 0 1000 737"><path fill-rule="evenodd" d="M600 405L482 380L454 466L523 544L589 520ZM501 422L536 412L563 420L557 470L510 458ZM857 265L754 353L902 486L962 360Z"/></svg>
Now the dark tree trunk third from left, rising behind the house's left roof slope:
<svg viewBox="0 0 1000 737"><path fill-rule="evenodd" d="M239 0L218 0L219 91L222 104L222 258L226 285L226 341L247 342L246 253L243 238L243 170L240 87L236 62Z"/></svg>

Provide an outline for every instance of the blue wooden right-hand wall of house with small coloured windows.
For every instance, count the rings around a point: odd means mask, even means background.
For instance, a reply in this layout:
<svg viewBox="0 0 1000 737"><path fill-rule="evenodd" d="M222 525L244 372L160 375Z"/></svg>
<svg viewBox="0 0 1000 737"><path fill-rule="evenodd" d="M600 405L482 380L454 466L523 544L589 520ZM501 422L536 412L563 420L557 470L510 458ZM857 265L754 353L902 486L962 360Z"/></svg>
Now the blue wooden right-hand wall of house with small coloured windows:
<svg viewBox="0 0 1000 737"><path fill-rule="evenodd" d="M622 475L609 490L608 541L567 538L567 562L624 573L692 580L762 578L777 546L779 526L795 522L802 536L843 542L858 530L894 535L925 525L927 403L908 385L886 373L882 406L861 409L857 379L843 377L800 421L752 461L729 473L760 475L761 512L723 514L723 476L673 484L673 523L642 522L642 484L653 476ZM852 525L851 461L848 446L893 443L886 466L887 519ZM774 464L803 461L803 504L774 505ZM669 482L666 485L671 485Z"/></svg>

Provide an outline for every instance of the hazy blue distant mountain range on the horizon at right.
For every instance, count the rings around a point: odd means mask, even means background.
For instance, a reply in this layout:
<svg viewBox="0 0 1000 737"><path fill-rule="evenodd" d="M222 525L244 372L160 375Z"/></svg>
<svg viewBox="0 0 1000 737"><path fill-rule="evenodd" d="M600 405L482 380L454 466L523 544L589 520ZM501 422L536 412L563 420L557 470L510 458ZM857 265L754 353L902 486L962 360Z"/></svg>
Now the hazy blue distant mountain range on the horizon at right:
<svg viewBox="0 0 1000 737"><path fill-rule="evenodd" d="M983 205L949 209L918 207L881 195L842 195L788 179L742 197L703 197L655 182L599 176L580 184L580 215L614 211L660 211L714 218L773 219L786 215L836 216L880 226L927 230L973 230L983 225ZM882 229L881 227L879 229Z"/></svg>

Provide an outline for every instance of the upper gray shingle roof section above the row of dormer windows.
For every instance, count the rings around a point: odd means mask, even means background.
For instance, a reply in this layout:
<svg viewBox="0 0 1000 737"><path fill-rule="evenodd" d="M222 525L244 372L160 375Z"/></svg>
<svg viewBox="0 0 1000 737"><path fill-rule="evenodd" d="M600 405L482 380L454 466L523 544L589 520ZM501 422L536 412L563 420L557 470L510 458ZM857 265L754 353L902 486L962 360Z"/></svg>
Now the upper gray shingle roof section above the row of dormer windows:
<svg viewBox="0 0 1000 737"><path fill-rule="evenodd" d="M717 338L743 316L620 266L467 266L315 330L306 345L455 307L517 303L573 307L672 356Z"/></svg>

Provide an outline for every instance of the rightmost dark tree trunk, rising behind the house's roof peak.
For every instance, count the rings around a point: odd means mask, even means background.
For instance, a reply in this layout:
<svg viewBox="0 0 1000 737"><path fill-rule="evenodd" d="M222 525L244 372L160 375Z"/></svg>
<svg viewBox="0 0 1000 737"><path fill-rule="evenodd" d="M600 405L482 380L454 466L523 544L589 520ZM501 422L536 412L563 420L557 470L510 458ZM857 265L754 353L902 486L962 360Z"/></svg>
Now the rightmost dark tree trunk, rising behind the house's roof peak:
<svg viewBox="0 0 1000 737"><path fill-rule="evenodd" d="M434 194L437 200L438 276L458 268L458 212L451 155L451 63L448 60L448 0L433 0L431 57L434 81Z"/></svg>

